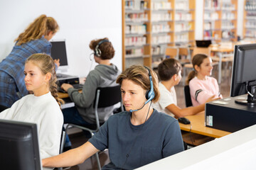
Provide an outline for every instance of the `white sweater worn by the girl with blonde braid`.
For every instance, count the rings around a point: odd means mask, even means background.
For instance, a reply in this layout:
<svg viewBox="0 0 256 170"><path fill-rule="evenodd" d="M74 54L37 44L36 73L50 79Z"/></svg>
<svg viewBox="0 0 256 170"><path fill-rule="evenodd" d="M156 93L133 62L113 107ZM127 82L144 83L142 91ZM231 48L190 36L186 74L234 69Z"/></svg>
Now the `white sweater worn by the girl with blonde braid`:
<svg viewBox="0 0 256 170"><path fill-rule="evenodd" d="M24 96L0 113L1 119L36 123L41 159L59 154L63 114L50 94Z"/></svg>

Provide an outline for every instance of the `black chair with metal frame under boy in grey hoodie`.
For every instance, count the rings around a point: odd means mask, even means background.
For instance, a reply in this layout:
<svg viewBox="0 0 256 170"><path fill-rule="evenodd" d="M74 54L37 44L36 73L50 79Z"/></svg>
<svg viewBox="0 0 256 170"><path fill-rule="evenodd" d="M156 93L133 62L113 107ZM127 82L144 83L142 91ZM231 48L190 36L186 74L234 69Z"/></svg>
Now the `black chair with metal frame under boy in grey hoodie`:
<svg viewBox="0 0 256 170"><path fill-rule="evenodd" d="M75 124L68 124L66 128L66 132L68 130L69 126L73 126L75 128L80 128L82 130L86 130L90 132L90 135L93 136L95 132L97 132L100 129L100 121L99 121L99 115L97 113L98 108L106 108L109 106L114 106L117 103L121 103L122 106L122 98L121 98L121 91L120 91L120 86L110 86L110 87L98 87L96 89L96 95L95 95L95 100L93 107L95 109L95 128L88 128L84 127L82 125L75 125ZM122 111L123 111L123 107ZM99 159L99 154L96 153L96 159L97 159L97 166L98 169L101 169L100 166L100 159Z"/></svg>

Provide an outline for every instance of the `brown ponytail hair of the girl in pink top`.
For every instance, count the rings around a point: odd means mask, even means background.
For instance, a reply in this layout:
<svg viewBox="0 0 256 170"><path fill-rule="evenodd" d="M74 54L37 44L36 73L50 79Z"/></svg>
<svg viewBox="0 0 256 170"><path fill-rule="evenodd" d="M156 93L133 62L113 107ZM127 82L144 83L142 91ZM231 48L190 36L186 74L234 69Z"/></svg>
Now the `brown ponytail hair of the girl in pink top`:
<svg viewBox="0 0 256 170"><path fill-rule="evenodd" d="M187 85L189 84L189 81L191 81L191 79L193 79L197 75L195 66L197 65L198 67L200 67L201 64L203 63L203 60L205 60L207 57L208 56L205 54L197 54L193 57L192 59L193 70L188 74L188 77L186 79Z"/></svg>

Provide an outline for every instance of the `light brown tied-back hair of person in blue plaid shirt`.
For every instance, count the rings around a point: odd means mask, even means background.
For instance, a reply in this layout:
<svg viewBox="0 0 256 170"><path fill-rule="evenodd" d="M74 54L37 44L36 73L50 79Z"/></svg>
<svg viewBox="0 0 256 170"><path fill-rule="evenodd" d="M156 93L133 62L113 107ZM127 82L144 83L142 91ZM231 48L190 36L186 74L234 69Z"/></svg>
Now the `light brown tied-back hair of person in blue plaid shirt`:
<svg viewBox="0 0 256 170"><path fill-rule="evenodd" d="M31 23L23 33L18 35L14 41L18 41L17 45L22 45L25 42L31 40L37 40L43 35L48 35L50 31L56 33L59 29L58 23L52 17L47 17L46 15L41 15L36 18L33 23Z"/></svg>

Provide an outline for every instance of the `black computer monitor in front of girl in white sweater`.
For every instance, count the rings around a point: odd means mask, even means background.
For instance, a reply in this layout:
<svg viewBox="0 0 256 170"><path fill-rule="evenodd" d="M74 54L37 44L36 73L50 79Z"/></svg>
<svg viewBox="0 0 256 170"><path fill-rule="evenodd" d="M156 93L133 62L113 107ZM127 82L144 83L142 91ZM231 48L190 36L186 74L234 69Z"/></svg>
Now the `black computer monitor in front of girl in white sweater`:
<svg viewBox="0 0 256 170"><path fill-rule="evenodd" d="M0 120L0 162L0 169L41 169L36 124Z"/></svg>

